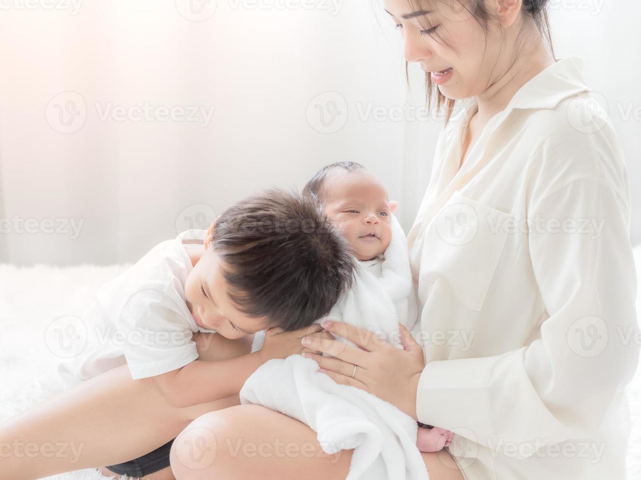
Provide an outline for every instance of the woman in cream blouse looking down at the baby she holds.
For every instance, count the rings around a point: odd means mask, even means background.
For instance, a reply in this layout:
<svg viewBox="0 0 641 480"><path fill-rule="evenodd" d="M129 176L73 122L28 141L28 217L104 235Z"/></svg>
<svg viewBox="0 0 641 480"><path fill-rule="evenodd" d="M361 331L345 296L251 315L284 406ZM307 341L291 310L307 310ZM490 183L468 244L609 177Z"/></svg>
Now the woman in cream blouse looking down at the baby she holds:
<svg viewBox="0 0 641 480"><path fill-rule="evenodd" d="M408 237L422 332L399 351L337 323L361 348L310 348L337 382L457 434L451 457L423 454L432 480L625 477L629 181L581 60L554 60L546 3L385 0L448 110ZM352 452L318 452L301 422L244 405L195 420L171 457L178 479L344 479Z"/></svg>

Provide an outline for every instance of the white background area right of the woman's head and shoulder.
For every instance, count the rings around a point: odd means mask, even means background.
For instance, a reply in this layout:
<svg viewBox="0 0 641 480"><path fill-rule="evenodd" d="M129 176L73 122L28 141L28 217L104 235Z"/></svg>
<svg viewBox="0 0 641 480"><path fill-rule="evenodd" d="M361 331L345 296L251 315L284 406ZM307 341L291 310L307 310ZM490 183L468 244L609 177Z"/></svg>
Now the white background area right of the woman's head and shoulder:
<svg viewBox="0 0 641 480"><path fill-rule="evenodd" d="M557 57L585 58L585 76L607 109L626 156L632 187L631 237L641 242L641 3L552 0Z"/></svg>

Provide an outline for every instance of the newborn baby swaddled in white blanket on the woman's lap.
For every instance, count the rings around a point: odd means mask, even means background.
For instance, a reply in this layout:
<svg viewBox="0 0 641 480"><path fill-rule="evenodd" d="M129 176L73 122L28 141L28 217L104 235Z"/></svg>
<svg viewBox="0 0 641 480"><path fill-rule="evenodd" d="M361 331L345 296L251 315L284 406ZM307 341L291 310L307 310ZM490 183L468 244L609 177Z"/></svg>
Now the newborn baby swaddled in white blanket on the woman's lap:
<svg viewBox="0 0 641 480"><path fill-rule="evenodd" d="M403 348L399 324L411 332L418 315L406 238L393 215L397 203L388 200L376 177L353 162L322 168L303 193L316 199L358 259L351 287L328 317ZM352 344L342 337L336 340ZM261 342L261 335L256 335L252 350L260 349ZM419 428L422 424L395 406L335 383L315 373L317 368L316 362L299 355L266 362L243 385L240 402L260 404L307 424L328 454L354 449L350 467L354 478L368 477L372 471L397 471L403 464L407 478L422 477L425 465L419 451L435 452L450 444L453 433Z"/></svg>

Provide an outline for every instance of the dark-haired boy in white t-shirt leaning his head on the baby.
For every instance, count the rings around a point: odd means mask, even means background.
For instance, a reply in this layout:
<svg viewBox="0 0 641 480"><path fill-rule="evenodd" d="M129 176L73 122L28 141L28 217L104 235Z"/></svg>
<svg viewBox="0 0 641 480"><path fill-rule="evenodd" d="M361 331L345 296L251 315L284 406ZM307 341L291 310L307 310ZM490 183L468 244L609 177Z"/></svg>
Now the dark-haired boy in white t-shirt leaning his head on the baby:
<svg viewBox="0 0 641 480"><path fill-rule="evenodd" d="M41 410L37 407L0 433L0 442L74 438L85 447L79 460L69 465L60 458L29 458L28 463L3 459L0 478L41 477L97 467L104 465L105 458L126 460L122 456L127 449L108 436L121 435L123 443L128 437L127 442L135 445L129 438L134 433L148 442L149 431L164 429L162 435L167 436L158 436L162 443L167 442L178 435L182 418L180 422L167 418L162 424L142 426L137 420L149 417L154 409L162 412L162 417L232 396L238 403L240 387L263 362L310 351L300 343L310 332L306 327L329 312L349 287L353 273L349 246L317 204L307 196L272 189L233 205L204 237L204 249L185 248L194 244L187 234L160 243L106 284L84 319L89 332L87 348L79 358L60 367L67 380L87 380L76 381L80 384L78 394L67 394L65 402L54 399ZM261 351L221 361L201 359L197 347L202 347L204 335L239 340L265 328L269 330ZM320 337L329 335L320 328L311 331ZM194 341L196 337L198 341ZM127 341L122 342L123 338ZM111 396L110 403L103 400L105 396L97 396L94 402L92 394L100 388L96 382L112 378L112 372L124 364L131 377L146 387L127 388L144 395L130 395L127 407L121 410L112 404L122 401L117 396ZM88 390L85 383L94 390ZM154 387L160 398L154 396ZM154 400L145 404L150 397ZM56 405L56 417L46 412L51 405ZM87 410L96 412L97 418ZM81 424L79 419L87 423ZM104 425L110 419L117 419L113 420L115 432L111 425ZM115 424L121 429L126 425L127 431L117 431ZM94 434L94 429L103 434ZM109 470L137 477L153 474L169 467L169 447L171 441ZM143 447L136 448L138 453ZM119 454L109 456L105 449Z"/></svg>

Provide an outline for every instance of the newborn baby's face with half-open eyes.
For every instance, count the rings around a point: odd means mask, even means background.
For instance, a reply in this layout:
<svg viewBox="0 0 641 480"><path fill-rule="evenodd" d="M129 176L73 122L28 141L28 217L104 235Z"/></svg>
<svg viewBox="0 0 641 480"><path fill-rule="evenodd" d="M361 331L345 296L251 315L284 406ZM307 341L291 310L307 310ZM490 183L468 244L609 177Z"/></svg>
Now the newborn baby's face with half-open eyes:
<svg viewBox="0 0 641 480"><path fill-rule="evenodd" d="M396 202L371 173L329 173L324 184L323 212L342 230L359 260L385 252L392 240L390 216Z"/></svg>

